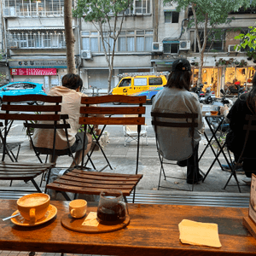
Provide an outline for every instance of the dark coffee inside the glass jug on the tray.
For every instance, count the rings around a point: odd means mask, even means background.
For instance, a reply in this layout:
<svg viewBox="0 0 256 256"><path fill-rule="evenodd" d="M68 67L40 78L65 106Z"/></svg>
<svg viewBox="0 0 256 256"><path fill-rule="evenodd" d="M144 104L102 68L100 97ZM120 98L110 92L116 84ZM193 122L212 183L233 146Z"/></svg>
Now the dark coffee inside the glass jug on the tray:
<svg viewBox="0 0 256 256"><path fill-rule="evenodd" d="M100 222L123 222L125 220L125 207L121 205L111 208L99 207L97 218Z"/></svg>

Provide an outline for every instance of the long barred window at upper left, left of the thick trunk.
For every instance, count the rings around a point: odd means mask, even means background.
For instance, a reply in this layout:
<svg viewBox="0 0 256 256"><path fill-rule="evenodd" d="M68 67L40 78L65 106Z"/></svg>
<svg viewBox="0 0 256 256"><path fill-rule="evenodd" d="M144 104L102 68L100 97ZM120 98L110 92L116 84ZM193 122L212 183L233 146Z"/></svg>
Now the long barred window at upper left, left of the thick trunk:
<svg viewBox="0 0 256 256"><path fill-rule="evenodd" d="M26 48L26 49L42 49L57 48L65 49L65 32L64 31L30 31L30 32L8 32L7 47L10 48Z"/></svg>

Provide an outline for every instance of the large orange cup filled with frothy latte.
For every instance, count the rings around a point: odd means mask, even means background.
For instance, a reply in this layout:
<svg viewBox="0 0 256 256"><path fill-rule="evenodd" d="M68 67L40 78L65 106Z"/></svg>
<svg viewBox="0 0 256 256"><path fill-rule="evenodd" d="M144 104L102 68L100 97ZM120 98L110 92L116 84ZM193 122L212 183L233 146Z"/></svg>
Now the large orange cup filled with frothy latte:
<svg viewBox="0 0 256 256"><path fill-rule="evenodd" d="M24 195L17 201L18 210L23 218L35 223L38 219L44 218L49 200L49 195L43 193Z"/></svg>

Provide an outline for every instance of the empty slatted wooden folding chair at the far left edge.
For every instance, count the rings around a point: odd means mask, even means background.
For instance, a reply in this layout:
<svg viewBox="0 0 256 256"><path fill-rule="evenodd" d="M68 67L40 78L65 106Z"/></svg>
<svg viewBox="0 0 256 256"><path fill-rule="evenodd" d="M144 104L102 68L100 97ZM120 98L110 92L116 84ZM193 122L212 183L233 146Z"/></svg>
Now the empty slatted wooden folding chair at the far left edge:
<svg viewBox="0 0 256 256"><path fill-rule="evenodd" d="M51 105L42 106L28 106L24 102L38 101L38 102L49 102ZM5 162L5 156L8 152L6 138L8 135L7 124L9 121L24 120L28 121L49 121L48 124L34 124L33 128L44 128L54 130L54 141L53 141L53 154L55 154L55 133L58 129L57 122L60 120L61 111L61 96L42 96L42 95L27 95L27 96L3 96L2 111L0 113L0 119L5 122L4 135L3 135L3 158L0 163L0 180L23 180L24 182L31 181L37 192L42 192L38 187L38 183L35 182L35 178L43 175L45 172L49 172L50 169L55 166L54 163L31 163L31 162ZM46 112L46 113L43 113ZM49 175L47 182L49 182ZM46 192L46 187L44 192Z"/></svg>

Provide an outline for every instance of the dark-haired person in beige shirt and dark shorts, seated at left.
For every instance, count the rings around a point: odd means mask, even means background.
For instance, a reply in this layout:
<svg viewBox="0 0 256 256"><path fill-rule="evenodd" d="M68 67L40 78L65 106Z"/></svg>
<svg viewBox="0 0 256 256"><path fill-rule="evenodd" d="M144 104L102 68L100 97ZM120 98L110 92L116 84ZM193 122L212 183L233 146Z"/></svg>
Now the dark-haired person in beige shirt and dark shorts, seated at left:
<svg viewBox="0 0 256 256"><path fill-rule="evenodd" d="M68 114L67 122L70 124L68 129L68 140L71 150L75 156L70 167L74 167L82 160L84 132L78 132L81 125L79 125L81 97L86 96L80 91L83 87L83 81L77 74L67 73L61 80L62 86L55 86L49 90L49 96L62 96L61 114ZM50 154L53 142L53 131L48 129L35 129L34 143L38 152L42 154ZM47 138L47 139L45 139ZM92 143L92 137L89 133L85 136L85 150L86 155ZM55 140L55 159L50 157L50 162L55 162L58 155L69 154L67 145L67 137L64 130L57 129Z"/></svg>

